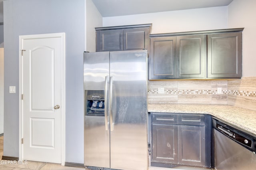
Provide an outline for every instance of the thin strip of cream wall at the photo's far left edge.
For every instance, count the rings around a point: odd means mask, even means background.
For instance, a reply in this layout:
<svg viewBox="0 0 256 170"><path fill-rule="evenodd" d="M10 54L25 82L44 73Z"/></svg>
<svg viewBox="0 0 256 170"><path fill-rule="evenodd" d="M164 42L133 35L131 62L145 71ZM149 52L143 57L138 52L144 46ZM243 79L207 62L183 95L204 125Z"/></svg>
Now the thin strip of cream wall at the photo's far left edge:
<svg viewBox="0 0 256 170"><path fill-rule="evenodd" d="M4 48L0 48L0 134L4 133Z"/></svg>

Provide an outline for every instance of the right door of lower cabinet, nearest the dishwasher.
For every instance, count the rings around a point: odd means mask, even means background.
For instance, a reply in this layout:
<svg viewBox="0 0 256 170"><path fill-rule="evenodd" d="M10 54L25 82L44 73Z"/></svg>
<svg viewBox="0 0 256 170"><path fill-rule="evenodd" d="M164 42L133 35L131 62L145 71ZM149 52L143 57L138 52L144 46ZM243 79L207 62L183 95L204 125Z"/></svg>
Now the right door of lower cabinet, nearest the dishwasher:
<svg viewBox="0 0 256 170"><path fill-rule="evenodd" d="M205 166L205 128L196 126L178 127L179 164Z"/></svg>

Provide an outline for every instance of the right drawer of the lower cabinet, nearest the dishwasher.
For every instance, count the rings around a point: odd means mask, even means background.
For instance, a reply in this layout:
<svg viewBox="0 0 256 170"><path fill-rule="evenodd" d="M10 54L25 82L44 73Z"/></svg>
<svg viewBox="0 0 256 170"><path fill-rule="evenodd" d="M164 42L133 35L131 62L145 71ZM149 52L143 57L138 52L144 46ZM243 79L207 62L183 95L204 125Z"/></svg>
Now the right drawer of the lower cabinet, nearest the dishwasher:
<svg viewBox="0 0 256 170"><path fill-rule="evenodd" d="M179 125L204 125L204 115L179 115Z"/></svg>

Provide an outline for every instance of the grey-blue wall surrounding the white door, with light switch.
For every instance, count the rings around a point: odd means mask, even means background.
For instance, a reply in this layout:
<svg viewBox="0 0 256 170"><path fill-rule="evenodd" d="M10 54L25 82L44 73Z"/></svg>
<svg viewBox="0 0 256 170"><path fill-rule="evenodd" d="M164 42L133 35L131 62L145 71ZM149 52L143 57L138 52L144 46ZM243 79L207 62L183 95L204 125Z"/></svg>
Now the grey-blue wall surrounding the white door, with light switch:
<svg viewBox="0 0 256 170"><path fill-rule="evenodd" d="M4 156L19 156L19 36L65 32L66 162L84 163L85 10L85 0L4 1Z"/></svg>

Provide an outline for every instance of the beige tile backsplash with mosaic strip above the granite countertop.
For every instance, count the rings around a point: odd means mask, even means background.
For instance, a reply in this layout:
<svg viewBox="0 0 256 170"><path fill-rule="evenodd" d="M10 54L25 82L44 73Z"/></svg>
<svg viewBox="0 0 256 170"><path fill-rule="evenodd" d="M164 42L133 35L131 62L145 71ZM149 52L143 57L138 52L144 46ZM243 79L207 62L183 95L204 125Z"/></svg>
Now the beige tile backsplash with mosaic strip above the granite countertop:
<svg viewBox="0 0 256 170"><path fill-rule="evenodd" d="M148 103L228 104L256 110L256 77L148 81Z"/></svg>

